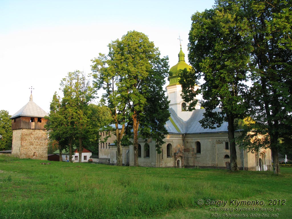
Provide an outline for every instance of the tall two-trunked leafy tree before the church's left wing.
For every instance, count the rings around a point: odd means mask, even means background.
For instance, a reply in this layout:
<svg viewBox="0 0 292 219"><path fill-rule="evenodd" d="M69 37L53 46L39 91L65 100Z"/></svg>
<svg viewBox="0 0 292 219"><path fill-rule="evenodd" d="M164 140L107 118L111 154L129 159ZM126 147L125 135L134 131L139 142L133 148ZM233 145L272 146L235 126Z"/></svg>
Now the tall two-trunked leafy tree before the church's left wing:
<svg viewBox="0 0 292 219"><path fill-rule="evenodd" d="M161 97L161 81L168 72L168 58L160 58L158 48L149 41L148 37L137 31L129 31L121 40L117 39L108 45L109 54L100 55L93 60L93 71L97 79L98 88L104 88L106 93L104 98L108 106L112 109L112 115L116 130L119 121L122 125L121 132L124 133L125 123L131 121L133 126L133 147L134 165L138 166L138 129L140 122L147 123L145 110L149 106L150 100L154 102L162 101L162 105L167 105L166 98ZM160 81L159 81L160 80ZM158 82L159 81L159 82ZM150 83L159 87L157 98L153 98L154 90L150 88ZM152 96L152 98L150 97ZM161 99L159 99L161 97ZM155 105L155 103L154 103ZM167 107L168 108L168 107ZM164 107L157 107L160 113L168 114ZM116 119L117 118L117 119ZM157 117L157 122L159 119ZM164 121L161 120L161 124ZM150 125L150 123L148 123ZM154 123L153 123L154 124ZM155 128L160 128L156 126ZM152 130L154 130L153 128ZM117 136L120 135L116 131ZM121 162L121 150L119 149L120 139L117 137L118 161ZM158 141L160 143L160 141ZM120 159L120 160L119 160Z"/></svg>

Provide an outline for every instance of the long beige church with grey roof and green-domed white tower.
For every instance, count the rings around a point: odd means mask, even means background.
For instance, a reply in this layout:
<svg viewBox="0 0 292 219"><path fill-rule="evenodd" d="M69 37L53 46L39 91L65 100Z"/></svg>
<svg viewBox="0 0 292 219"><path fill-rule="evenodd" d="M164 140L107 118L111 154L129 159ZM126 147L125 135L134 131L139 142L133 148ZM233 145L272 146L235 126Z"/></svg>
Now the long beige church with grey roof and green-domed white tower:
<svg viewBox="0 0 292 219"><path fill-rule="evenodd" d="M220 168L230 165L230 145L228 140L227 122L215 129L203 128L199 120L203 119L204 109L199 104L192 112L187 110L189 103L182 97L182 87L179 84L178 70L190 69L185 62L185 54L181 47L178 54L178 63L171 67L166 86L171 116L165 127L168 135L161 146L161 154L155 148L155 141L148 139L138 140L138 165L149 167L177 167L177 168ZM201 98L201 97L197 97ZM215 109L220 111L219 108ZM236 131L235 136L240 135ZM102 136L103 138L103 136ZM112 135L106 143L100 143L100 163L115 164L117 162L117 147L110 144L115 139ZM260 149L256 153L236 147L237 165L241 170L267 171L272 170L270 149ZM133 145L123 147L123 164L134 165Z"/></svg>

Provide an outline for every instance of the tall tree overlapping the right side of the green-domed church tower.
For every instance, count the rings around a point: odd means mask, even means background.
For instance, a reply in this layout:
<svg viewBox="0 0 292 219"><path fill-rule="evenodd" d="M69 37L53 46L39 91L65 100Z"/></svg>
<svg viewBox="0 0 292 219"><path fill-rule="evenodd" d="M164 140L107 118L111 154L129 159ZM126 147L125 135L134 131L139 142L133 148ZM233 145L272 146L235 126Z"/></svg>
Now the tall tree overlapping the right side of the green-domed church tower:
<svg viewBox="0 0 292 219"><path fill-rule="evenodd" d="M232 1L216 1L212 9L192 15L189 33L189 61L193 69L180 73L182 97L190 102L189 110L195 109L196 95L202 94L200 101L205 108L204 128L219 127L228 122L230 142L230 169L237 171L237 155L234 138L236 119L246 114L246 104L242 94L246 91L247 63L250 42L246 38L247 20L242 4ZM195 86L204 79L199 89ZM221 111L214 111L216 107Z"/></svg>

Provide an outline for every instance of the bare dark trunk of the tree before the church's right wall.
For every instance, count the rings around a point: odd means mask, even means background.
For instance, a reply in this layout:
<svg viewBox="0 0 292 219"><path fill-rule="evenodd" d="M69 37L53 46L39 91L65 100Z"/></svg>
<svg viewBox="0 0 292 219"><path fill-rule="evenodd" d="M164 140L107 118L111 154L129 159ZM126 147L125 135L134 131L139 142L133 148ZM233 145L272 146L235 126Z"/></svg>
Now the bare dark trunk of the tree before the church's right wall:
<svg viewBox="0 0 292 219"><path fill-rule="evenodd" d="M230 143L230 170L238 171L235 138L234 138L234 117L233 115L227 115L227 117L228 117L228 139Z"/></svg>

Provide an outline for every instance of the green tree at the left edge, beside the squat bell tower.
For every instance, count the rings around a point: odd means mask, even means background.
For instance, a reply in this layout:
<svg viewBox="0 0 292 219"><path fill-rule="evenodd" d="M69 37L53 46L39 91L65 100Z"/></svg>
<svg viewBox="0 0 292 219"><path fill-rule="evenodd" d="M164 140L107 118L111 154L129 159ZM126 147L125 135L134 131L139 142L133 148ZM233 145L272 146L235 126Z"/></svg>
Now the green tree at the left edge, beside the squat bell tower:
<svg viewBox="0 0 292 219"><path fill-rule="evenodd" d="M9 112L0 110L0 150L11 150L12 129Z"/></svg>

